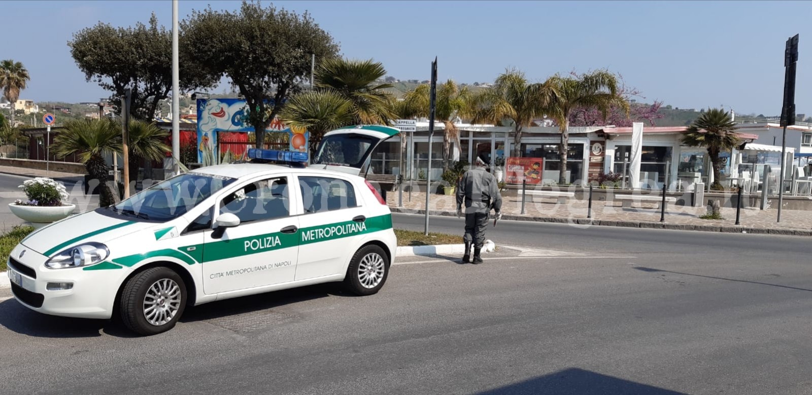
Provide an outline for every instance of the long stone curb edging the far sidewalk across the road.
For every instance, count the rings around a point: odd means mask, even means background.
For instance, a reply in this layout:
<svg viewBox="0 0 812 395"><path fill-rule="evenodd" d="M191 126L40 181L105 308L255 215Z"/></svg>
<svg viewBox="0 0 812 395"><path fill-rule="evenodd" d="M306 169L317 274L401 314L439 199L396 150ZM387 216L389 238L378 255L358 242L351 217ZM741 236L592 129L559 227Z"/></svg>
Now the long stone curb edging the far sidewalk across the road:
<svg viewBox="0 0 812 395"><path fill-rule="evenodd" d="M425 214L425 210L410 210L399 207L390 207L393 213ZM429 210L429 215L443 217L456 217L452 211ZM812 236L812 230L807 229L771 229L768 227L745 227L730 225L692 225L683 223L612 221L606 219L560 218L560 217L530 217L528 215L503 214L502 219L512 221L528 221L541 223L568 223L571 225L597 225L603 227L641 227L646 229L669 229L673 231L715 231L720 233L753 233L757 235L775 236Z"/></svg>

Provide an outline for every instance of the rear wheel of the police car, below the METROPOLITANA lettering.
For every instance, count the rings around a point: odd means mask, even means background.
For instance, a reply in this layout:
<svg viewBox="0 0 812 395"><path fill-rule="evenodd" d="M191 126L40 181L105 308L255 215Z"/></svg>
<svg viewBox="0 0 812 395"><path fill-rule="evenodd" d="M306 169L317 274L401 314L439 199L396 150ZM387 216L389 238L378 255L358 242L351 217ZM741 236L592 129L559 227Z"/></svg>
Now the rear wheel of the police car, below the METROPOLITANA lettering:
<svg viewBox="0 0 812 395"><path fill-rule="evenodd" d="M356 251L347 268L344 286L356 295L373 295L380 291L389 275L387 253L370 244Z"/></svg>

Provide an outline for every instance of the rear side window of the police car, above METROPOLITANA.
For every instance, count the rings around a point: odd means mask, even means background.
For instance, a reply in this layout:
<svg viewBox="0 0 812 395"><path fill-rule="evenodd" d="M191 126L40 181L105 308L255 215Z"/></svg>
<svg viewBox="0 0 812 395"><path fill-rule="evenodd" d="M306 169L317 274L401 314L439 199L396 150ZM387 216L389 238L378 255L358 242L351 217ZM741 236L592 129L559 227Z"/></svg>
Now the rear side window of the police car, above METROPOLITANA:
<svg viewBox="0 0 812 395"><path fill-rule="evenodd" d="M341 210L358 206L355 189L348 181L324 176L299 177L304 213Z"/></svg>

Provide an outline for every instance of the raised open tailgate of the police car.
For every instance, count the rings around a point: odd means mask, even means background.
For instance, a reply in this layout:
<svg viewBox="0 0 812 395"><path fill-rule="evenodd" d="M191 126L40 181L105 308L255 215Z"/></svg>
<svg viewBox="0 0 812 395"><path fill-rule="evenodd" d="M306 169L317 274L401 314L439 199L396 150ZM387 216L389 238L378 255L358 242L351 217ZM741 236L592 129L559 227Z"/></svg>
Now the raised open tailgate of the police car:
<svg viewBox="0 0 812 395"><path fill-rule="evenodd" d="M327 132L310 167L365 176L375 147L399 133L393 127L380 125L347 126Z"/></svg>

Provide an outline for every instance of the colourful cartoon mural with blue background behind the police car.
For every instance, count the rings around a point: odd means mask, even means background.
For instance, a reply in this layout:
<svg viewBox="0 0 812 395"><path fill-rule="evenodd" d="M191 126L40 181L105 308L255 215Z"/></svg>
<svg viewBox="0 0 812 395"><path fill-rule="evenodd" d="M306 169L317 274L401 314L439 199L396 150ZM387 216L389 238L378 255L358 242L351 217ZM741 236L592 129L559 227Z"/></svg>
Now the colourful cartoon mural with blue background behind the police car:
<svg viewBox="0 0 812 395"><path fill-rule="evenodd" d="M197 149L203 166L243 159L249 145L248 133L254 131L253 126L246 123L246 106L243 99L197 99ZM307 130L291 130L274 119L266 131L287 133L289 150L307 151ZM229 142L227 147L218 147L218 136L219 140L225 138Z"/></svg>

